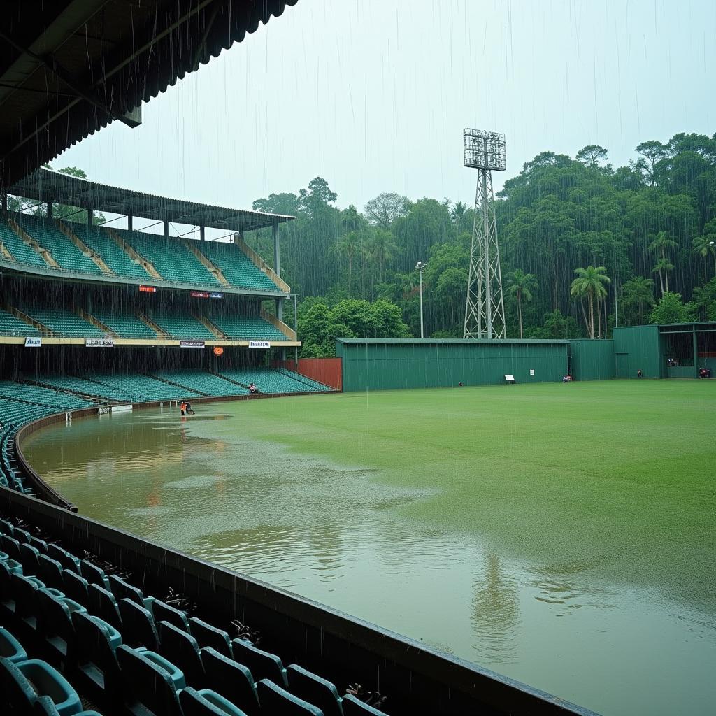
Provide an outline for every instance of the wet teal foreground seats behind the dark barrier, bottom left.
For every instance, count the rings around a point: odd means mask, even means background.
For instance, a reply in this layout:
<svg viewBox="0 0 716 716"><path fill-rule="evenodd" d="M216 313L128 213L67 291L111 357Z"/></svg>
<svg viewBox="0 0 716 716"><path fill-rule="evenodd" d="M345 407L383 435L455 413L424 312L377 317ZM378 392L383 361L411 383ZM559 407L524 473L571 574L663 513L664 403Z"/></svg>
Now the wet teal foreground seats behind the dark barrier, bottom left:
<svg viewBox="0 0 716 716"><path fill-rule="evenodd" d="M7 520L0 520L0 619L79 692L102 705L123 702L133 714L382 715L352 694L339 696L334 684L299 664L284 667L278 655L248 639L231 639ZM2 654L6 662L24 661L16 640L2 643L10 652ZM57 682L64 705L72 687L67 679Z"/></svg>

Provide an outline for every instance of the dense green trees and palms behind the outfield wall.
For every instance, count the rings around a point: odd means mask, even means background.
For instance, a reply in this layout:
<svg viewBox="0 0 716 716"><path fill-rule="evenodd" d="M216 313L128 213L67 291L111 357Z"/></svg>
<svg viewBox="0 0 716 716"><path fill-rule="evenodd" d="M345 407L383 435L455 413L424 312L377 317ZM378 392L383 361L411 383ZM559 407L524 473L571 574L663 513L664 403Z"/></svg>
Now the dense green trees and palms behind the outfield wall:
<svg viewBox="0 0 716 716"><path fill-rule="evenodd" d="M414 266L427 259L425 335L461 337L473 210L395 193L370 200L363 213L353 205L341 211L336 200L315 178L297 195L253 203L297 217L282 227L282 261L299 296L321 297L326 315L345 299L390 301L418 335ZM716 135L644 142L617 168L596 145L575 159L541 153L505 182L496 212L508 337L604 337L617 318L635 325L716 316ZM270 257L268 235L247 238ZM669 296L676 293L689 303ZM359 317L314 332L317 310L306 298L299 306L299 316L310 311L301 319L304 354L328 351L332 332L348 324L347 336L374 335L362 333L373 324ZM396 332L384 336L402 335L392 325Z"/></svg>

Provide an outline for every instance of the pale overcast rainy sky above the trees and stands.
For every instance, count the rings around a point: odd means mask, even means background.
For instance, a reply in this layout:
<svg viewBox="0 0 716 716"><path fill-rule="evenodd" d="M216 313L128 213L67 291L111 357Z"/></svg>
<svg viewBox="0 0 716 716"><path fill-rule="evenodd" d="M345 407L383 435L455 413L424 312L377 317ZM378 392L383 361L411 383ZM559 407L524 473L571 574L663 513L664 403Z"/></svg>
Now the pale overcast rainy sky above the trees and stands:
<svg viewBox="0 0 716 716"><path fill-rule="evenodd" d="M383 191L473 203L463 127L516 175L587 144L716 131L713 0L299 0L54 160L92 180L249 208L316 175L337 205Z"/></svg>

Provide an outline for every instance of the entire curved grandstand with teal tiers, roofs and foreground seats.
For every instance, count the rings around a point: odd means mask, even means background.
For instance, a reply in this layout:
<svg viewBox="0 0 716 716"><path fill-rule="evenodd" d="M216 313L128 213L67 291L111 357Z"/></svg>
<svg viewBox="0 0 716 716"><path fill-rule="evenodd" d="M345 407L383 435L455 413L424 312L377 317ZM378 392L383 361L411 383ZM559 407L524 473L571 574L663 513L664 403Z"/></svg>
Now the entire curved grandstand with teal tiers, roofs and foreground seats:
<svg viewBox="0 0 716 716"><path fill-rule="evenodd" d="M295 296L281 279L279 248L281 225L293 217L43 168L110 122L137 126L142 102L294 4L29 0L3 9L0 711L586 714L97 523L24 458L26 435L73 417L334 390L284 367L286 352L295 358L300 345L295 311L293 326L283 320L284 302ZM42 213L9 211L9 197L32 200ZM82 208L87 220L55 216L58 205ZM125 226L97 223L102 212L125 218ZM137 231L137 219L163 224L163 233ZM170 222L195 226L199 238L170 236ZM208 241L206 229L221 229L229 240ZM273 231L271 266L245 241L261 229ZM378 690L388 697L385 710L367 696Z"/></svg>

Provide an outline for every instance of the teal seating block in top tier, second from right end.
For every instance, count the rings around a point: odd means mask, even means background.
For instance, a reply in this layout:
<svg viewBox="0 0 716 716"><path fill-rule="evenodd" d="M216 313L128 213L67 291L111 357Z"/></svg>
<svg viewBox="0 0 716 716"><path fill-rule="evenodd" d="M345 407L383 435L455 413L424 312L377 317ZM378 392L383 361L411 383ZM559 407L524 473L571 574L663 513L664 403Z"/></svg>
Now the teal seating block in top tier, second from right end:
<svg viewBox="0 0 716 716"><path fill-rule="evenodd" d="M216 276L177 238L125 229L117 229L117 233L140 256L150 261L165 281L221 286Z"/></svg>

